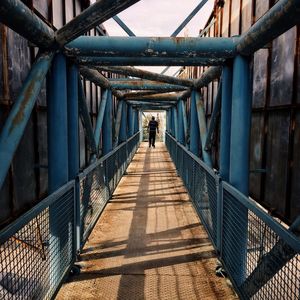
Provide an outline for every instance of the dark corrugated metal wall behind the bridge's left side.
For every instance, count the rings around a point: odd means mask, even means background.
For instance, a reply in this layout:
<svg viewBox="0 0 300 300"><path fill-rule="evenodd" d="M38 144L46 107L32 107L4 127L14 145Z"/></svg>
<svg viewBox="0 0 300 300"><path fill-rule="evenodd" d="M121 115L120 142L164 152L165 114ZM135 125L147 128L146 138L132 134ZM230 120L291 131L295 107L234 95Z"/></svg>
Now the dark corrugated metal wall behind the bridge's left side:
<svg viewBox="0 0 300 300"><path fill-rule="evenodd" d="M26 3L50 26L58 29L89 5L86 0L27 0ZM102 30L104 30L102 28ZM0 23L0 130L22 86L37 49ZM91 30L89 35L99 35ZM93 126L101 97L100 87L83 80ZM6 181L0 191L0 227L43 199L48 191L46 82L28 122ZM116 101L115 101L116 102ZM116 105L116 103L115 103ZM114 107L115 107L114 105ZM80 122L80 167L88 162Z"/></svg>

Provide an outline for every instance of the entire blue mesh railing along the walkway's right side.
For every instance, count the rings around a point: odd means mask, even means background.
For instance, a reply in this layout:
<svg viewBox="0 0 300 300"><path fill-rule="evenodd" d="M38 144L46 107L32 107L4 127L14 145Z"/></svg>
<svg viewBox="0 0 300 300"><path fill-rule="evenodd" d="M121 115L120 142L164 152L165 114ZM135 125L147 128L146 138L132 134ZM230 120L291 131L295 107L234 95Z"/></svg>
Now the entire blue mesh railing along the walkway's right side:
<svg viewBox="0 0 300 300"><path fill-rule="evenodd" d="M241 299L300 299L300 221L283 227L168 133L166 146Z"/></svg>

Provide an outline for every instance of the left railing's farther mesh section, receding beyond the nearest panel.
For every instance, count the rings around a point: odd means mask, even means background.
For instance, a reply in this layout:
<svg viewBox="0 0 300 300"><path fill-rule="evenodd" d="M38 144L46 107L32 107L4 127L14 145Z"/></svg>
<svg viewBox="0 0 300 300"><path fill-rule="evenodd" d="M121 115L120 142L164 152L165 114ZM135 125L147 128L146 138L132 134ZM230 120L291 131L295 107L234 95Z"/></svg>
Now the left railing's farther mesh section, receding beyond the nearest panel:
<svg viewBox="0 0 300 300"><path fill-rule="evenodd" d="M86 242L139 145L139 133L79 175L80 244Z"/></svg>

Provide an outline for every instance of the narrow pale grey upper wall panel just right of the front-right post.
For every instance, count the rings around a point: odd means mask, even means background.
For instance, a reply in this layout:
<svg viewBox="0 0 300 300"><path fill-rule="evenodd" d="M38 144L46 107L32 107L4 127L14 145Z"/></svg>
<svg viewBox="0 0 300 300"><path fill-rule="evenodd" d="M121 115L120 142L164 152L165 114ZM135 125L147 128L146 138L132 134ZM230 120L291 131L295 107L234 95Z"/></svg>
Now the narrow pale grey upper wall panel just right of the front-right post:
<svg viewBox="0 0 300 300"><path fill-rule="evenodd" d="M267 95L268 49L254 54L253 62L253 107L264 107Z"/></svg>

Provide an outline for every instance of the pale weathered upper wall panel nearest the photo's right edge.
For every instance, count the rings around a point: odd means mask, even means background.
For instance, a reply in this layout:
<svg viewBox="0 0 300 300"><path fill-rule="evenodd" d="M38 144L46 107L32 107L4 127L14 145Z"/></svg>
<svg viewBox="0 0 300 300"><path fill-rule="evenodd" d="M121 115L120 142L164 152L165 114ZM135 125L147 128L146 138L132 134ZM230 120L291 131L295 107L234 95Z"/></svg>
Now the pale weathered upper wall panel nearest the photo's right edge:
<svg viewBox="0 0 300 300"><path fill-rule="evenodd" d="M271 65L271 105L290 104L293 96L296 27L274 40Z"/></svg>

